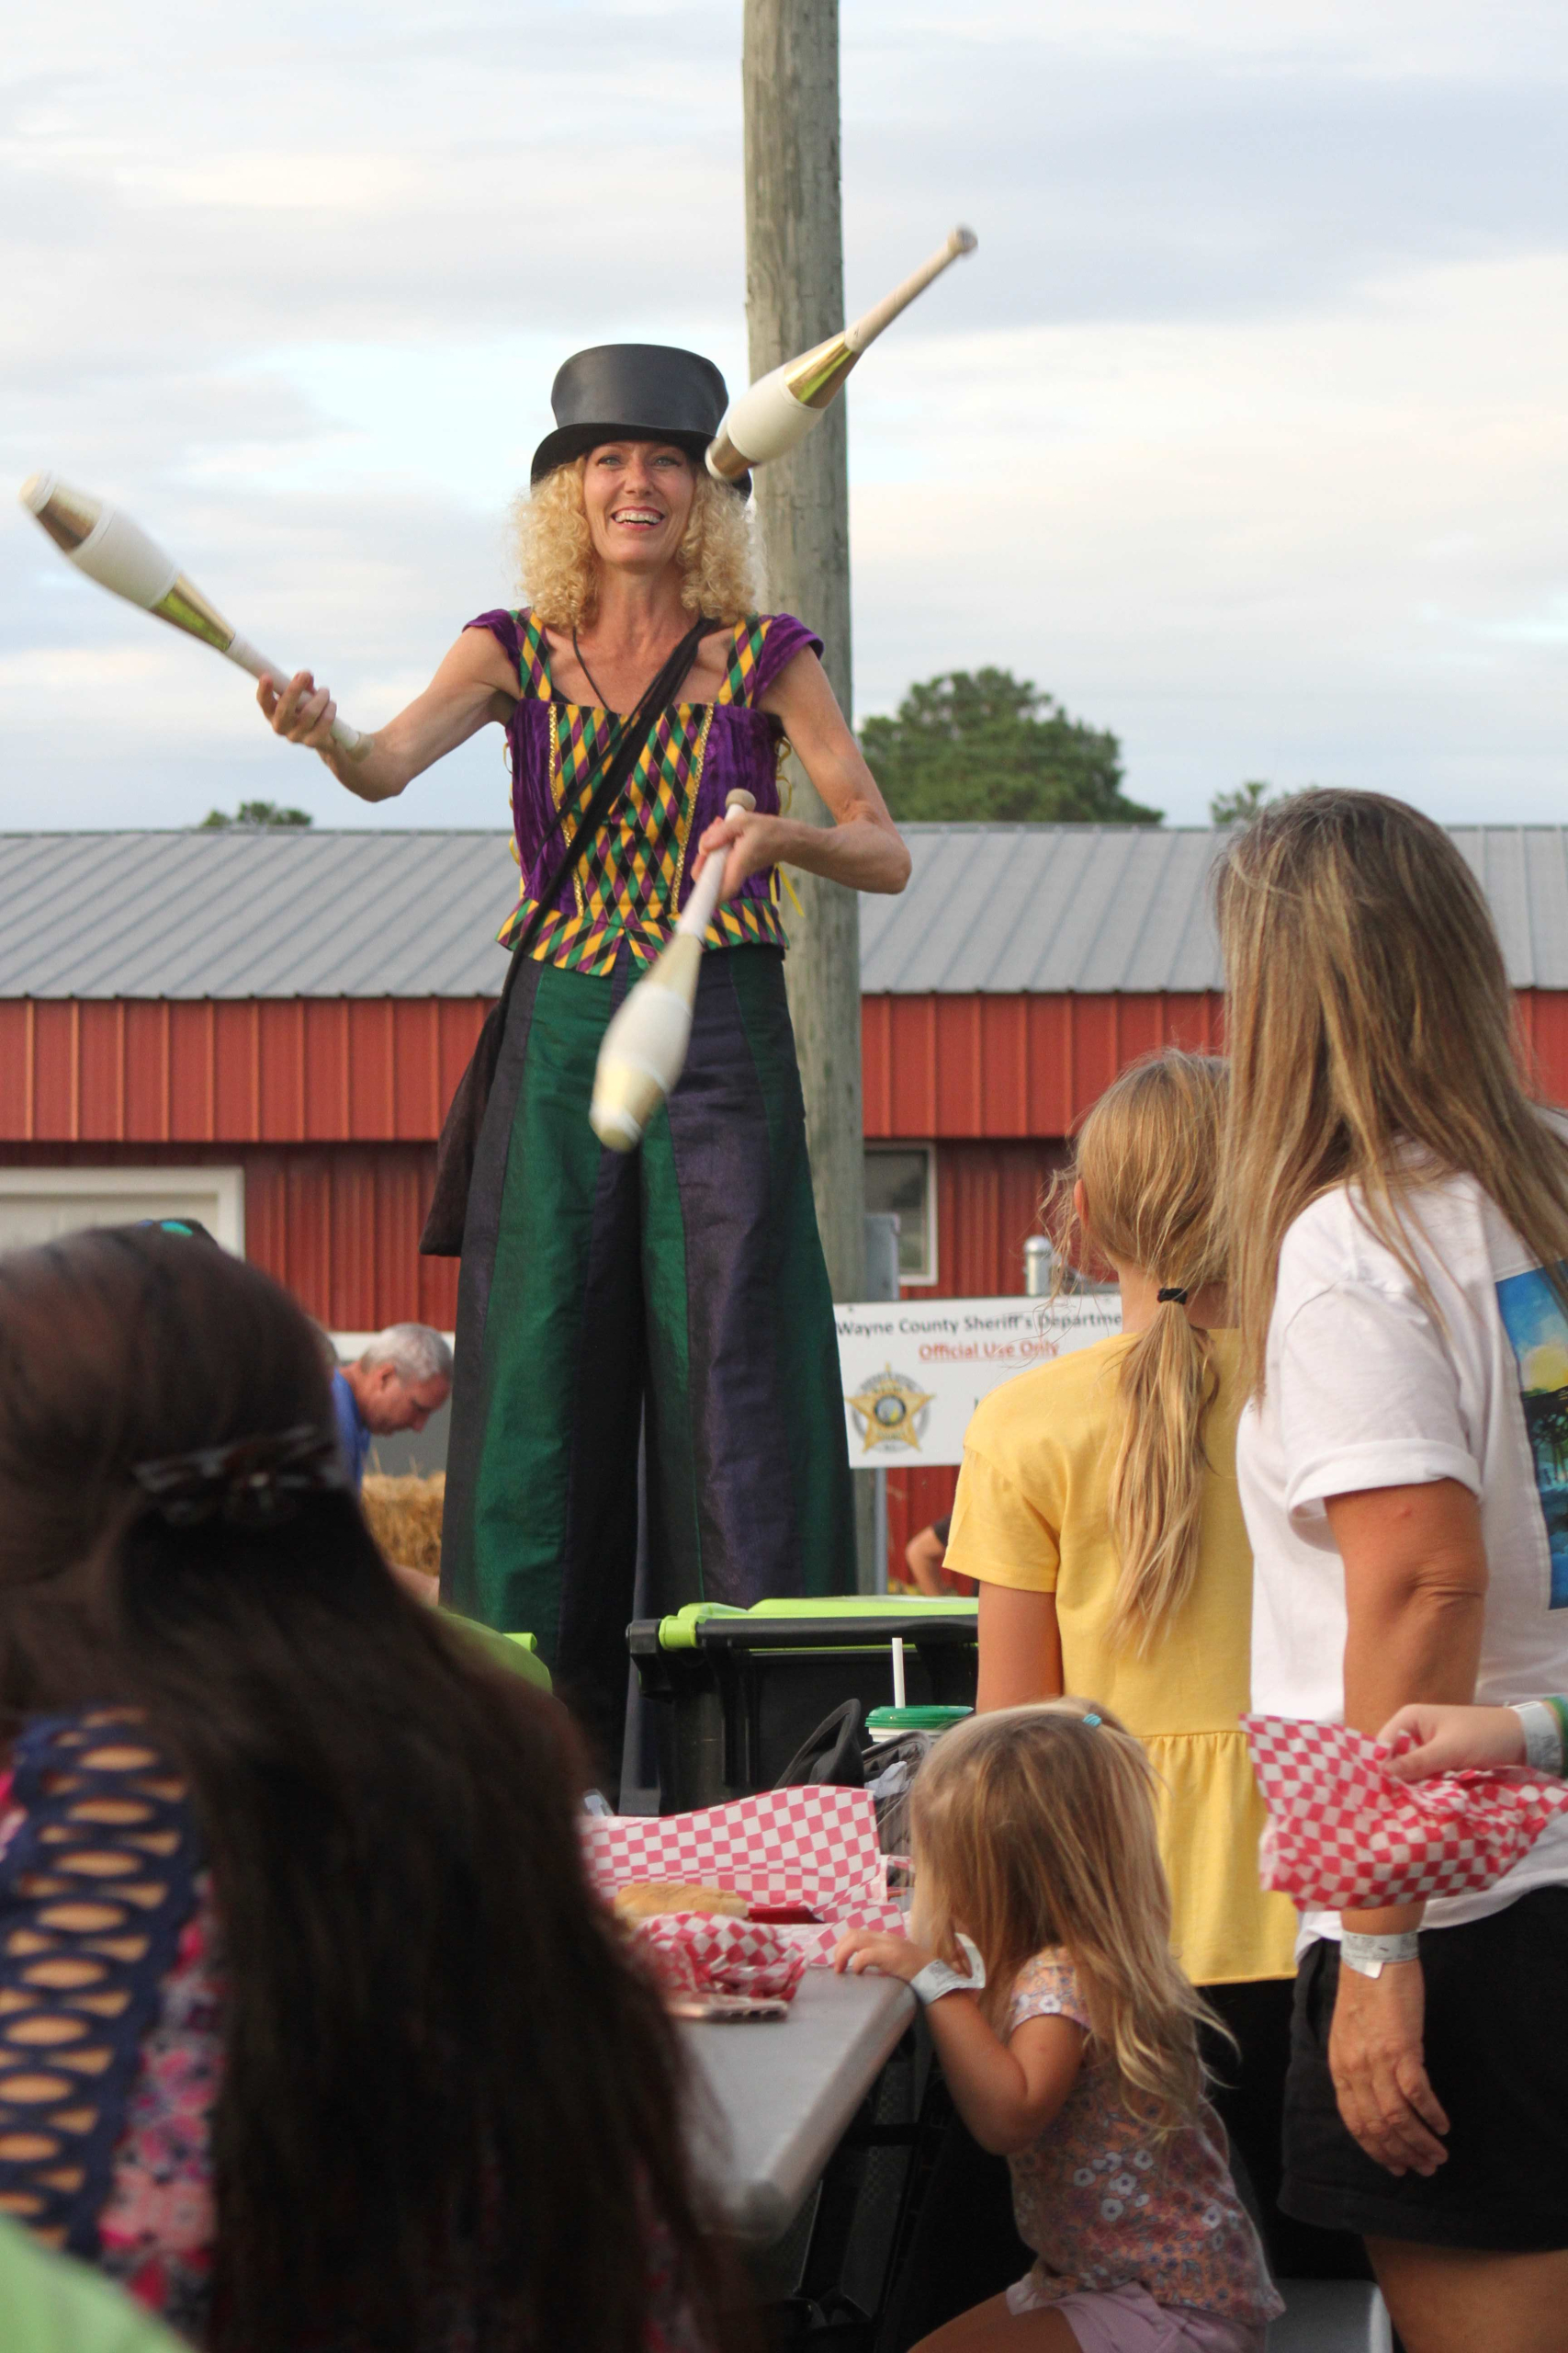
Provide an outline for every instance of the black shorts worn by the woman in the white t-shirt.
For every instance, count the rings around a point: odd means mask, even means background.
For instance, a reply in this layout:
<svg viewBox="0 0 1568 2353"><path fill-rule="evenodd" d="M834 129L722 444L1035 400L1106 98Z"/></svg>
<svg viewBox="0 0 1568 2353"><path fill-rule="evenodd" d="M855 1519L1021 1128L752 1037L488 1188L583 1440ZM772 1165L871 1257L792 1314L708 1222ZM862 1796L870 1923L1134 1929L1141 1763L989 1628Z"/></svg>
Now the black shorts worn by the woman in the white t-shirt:
<svg viewBox="0 0 1568 2353"><path fill-rule="evenodd" d="M1568 1887L1427 1929L1420 1958L1448 2162L1429 2179L1389 2174L1340 2122L1328 2075L1340 1948L1314 1944L1295 1977L1281 2207L1427 2247L1568 2247Z"/></svg>

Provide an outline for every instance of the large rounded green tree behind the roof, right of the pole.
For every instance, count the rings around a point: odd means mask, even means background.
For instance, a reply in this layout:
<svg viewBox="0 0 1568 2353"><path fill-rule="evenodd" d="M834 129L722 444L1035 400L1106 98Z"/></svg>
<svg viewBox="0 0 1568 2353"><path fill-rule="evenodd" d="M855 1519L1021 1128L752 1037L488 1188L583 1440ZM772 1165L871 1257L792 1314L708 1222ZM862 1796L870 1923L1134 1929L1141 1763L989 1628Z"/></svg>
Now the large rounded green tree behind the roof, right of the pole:
<svg viewBox="0 0 1568 2353"><path fill-rule="evenodd" d="M1121 791L1121 744L1011 671L947 671L865 720L860 748L893 816L1157 826Z"/></svg>

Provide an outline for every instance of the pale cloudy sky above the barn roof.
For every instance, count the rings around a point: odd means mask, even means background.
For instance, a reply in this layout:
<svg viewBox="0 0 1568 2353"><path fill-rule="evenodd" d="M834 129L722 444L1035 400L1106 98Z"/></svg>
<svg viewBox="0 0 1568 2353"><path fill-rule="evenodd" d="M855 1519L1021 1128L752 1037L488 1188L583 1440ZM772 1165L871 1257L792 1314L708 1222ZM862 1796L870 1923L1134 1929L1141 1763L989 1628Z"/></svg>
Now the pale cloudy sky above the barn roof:
<svg viewBox="0 0 1568 2353"><path fill-rule="evenodd" d="M508 600L564 353L743 372L741 0L75 0L0 61L0 475L122 499L357 725ZM1568 821L1561 0L844 0L858 713L999 661L1244 776ZM0 824L369 812L0 501Z"/></svg>

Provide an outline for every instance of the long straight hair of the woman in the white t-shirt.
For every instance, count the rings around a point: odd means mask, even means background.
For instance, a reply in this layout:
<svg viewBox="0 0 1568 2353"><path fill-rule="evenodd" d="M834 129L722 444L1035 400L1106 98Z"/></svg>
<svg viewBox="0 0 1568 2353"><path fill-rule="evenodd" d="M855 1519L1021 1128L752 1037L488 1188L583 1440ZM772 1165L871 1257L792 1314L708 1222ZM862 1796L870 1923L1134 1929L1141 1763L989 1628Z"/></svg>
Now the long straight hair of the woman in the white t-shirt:
<svg viewBox="0 0 1568 2353"><path fill-rule="evenodd" d="M1472 1174L1568 1306L1568 1148L1526 1089L1502 948L1443 828L1382 793L1298 793L1232 840L1215 913L1248 1391L1262 1391L1281 1242L1333 1186L1356 1186L1366 1226L1436 1311L1403 1209L1434 1167Z"/></svg>

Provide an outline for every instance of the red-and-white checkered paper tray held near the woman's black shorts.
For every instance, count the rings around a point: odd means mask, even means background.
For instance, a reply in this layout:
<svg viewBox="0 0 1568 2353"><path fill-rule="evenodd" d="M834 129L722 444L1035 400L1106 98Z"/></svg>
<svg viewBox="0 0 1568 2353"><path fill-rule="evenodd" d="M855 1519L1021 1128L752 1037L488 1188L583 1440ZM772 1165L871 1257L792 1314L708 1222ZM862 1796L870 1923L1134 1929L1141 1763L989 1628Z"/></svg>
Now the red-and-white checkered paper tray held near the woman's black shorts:
<svg viewBox="0 0 1568 2353"><path fill-rule="evenodd" d="M1347 1725L1244 1715L1269 1809L1258 1873L1302 1908L1366 1911L1490 1887L1568 1807L1568 1784L1521 1769L1399 1781Z"/></svg>

